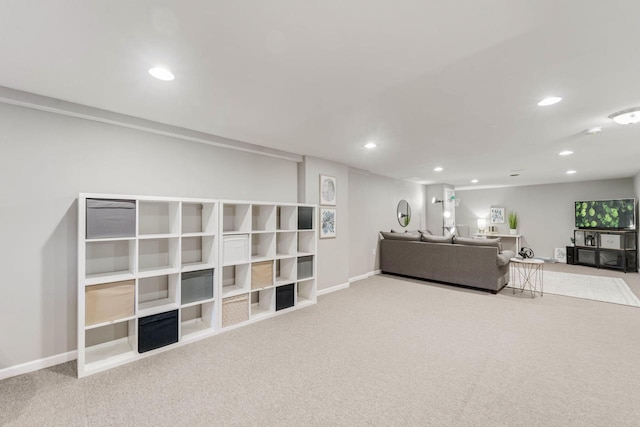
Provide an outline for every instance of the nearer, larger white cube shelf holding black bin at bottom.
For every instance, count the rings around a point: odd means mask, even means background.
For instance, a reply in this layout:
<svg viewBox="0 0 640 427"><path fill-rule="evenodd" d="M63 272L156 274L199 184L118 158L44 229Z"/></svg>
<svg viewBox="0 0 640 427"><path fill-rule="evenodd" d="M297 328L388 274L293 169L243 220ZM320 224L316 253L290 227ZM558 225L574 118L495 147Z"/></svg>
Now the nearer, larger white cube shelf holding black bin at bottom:
<svg viewBox="0 0 640 427"><path fill-rule="evenodd" d="M100 203L104 206L96 207ZM113 208L116 205L124 207ZM79 195L79 377L218 331L219 206L211 199ZM87 238L95 234L100 237ZM182 276L199 270L212 270L210 292L182 304ZM141 332L140 319L171 312L178 318L175 342L143 352L141 335L148 333ZM174 323L169 325L173 328Z"/></svg>

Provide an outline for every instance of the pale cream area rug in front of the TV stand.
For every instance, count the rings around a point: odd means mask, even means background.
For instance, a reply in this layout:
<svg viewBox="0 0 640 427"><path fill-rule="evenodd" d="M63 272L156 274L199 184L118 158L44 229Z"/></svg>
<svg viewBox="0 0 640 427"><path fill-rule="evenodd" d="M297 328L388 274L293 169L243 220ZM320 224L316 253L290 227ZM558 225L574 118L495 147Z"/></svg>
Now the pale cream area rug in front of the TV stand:
<svg viewBox="0 0 640 427"><path fill-rule="evenodd" d="M640 299L618 277L545 271L544 293L640 307Z"/></svg>

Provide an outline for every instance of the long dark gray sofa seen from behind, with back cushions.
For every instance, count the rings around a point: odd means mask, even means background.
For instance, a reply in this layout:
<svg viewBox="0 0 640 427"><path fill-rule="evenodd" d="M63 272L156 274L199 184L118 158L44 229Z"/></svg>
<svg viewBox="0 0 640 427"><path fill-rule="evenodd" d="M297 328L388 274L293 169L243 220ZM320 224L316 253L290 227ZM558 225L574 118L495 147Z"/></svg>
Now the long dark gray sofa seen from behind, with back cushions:
<svg viewBox="0 0 640 427"><path fill-rule="evenodd" d="M399 234L382 233L386 236L380 241L383 273L485 289L494 294L509 282L509 260L515 254L502 251L499 241Z"/></svg>

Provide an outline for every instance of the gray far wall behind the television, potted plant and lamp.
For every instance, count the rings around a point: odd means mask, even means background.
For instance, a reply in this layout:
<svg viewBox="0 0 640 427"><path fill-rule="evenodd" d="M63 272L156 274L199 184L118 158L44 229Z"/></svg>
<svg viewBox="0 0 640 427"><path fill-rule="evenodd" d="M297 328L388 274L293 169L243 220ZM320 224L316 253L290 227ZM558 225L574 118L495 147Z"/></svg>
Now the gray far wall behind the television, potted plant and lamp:
<svg viewBox="0 0 640 427"><path fill-rule="evenodd" d="M554 248L570 244L575 228L574 202L634 197L631 178L566 184L530 185L484 190L456 190L460 205L456 208L456 222L471 226L477 232L477 219L487 218L489 207L505 208L518 214L518 230L523 246L530 247L537 256L553 256ZM637 194L637 193L636 193ZM637 196L635 196L637 197ZM505 217L506 220L506 217ZM500 232L509 233L509 224L498 225Z"/></svg>

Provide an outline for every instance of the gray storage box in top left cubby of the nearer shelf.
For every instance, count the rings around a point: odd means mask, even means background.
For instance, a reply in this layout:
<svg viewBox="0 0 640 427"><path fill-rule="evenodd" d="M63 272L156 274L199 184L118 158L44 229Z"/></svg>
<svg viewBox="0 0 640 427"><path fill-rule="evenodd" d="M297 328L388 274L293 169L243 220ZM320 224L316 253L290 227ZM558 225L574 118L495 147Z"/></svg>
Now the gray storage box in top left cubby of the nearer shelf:
<svg viewBox="0 0 640 427"><path fill-rule="evenodd" d="M87 239L135 236L135 200L87 199Z"/></svg>

